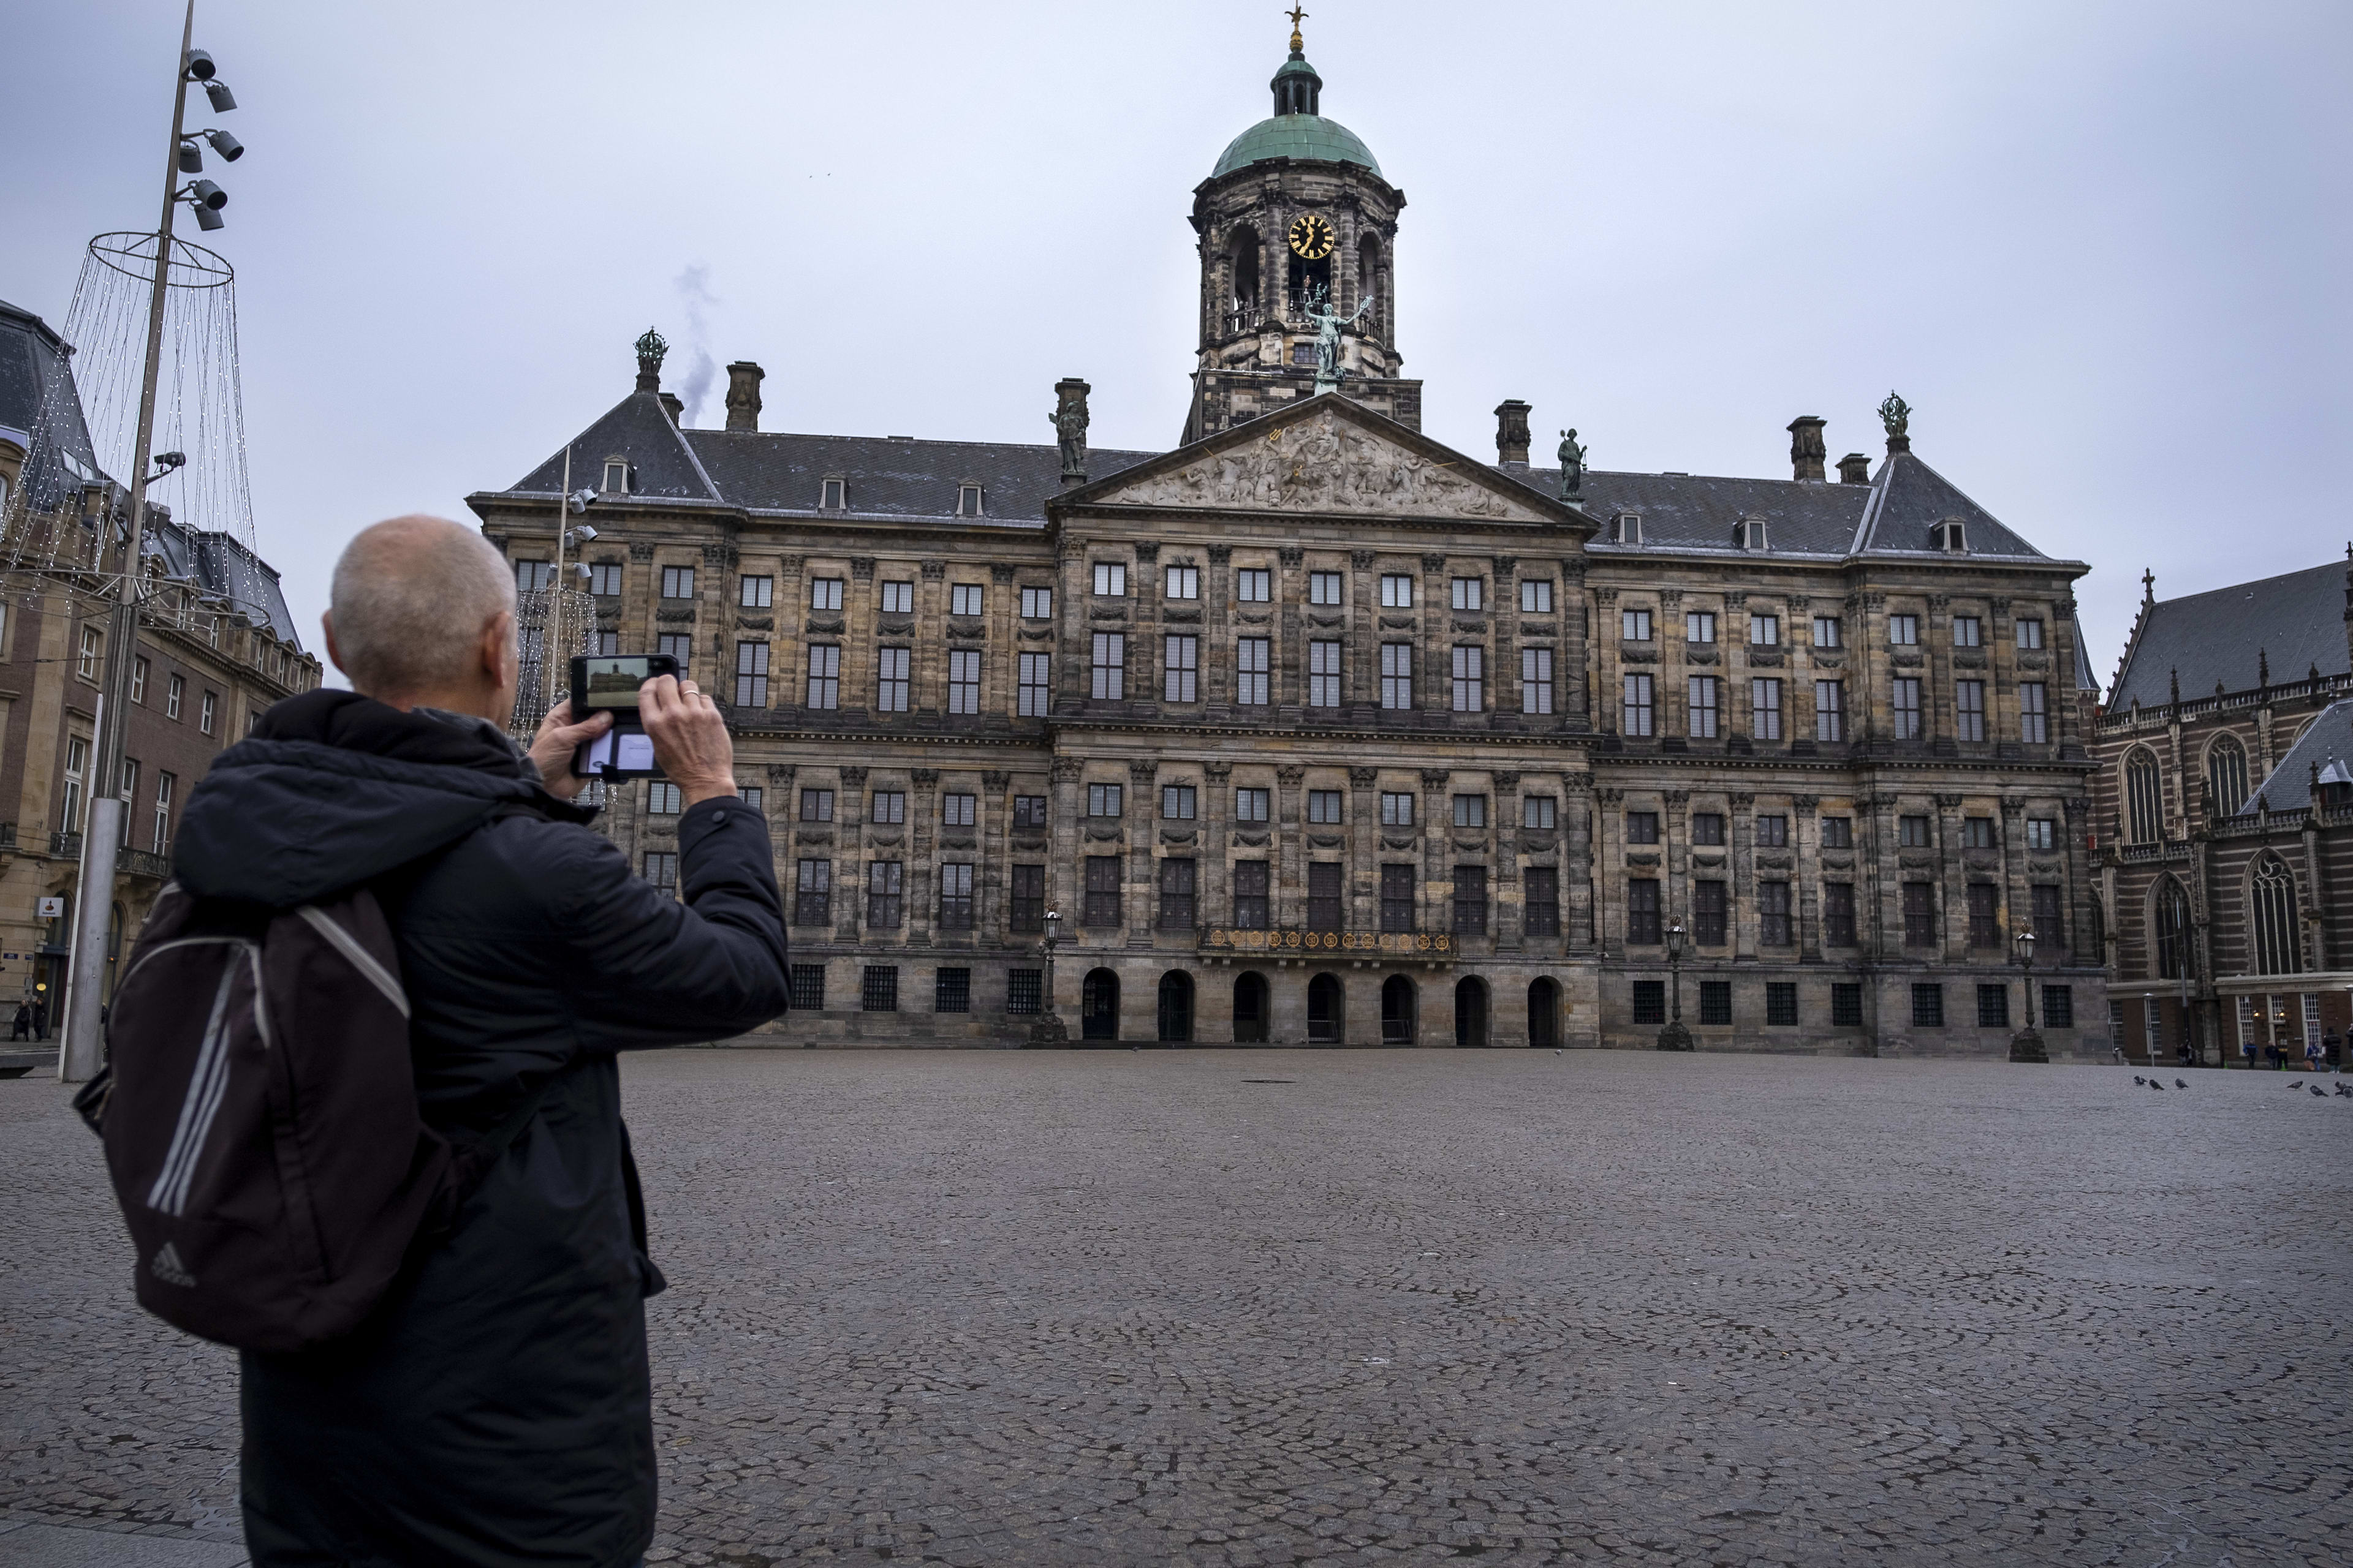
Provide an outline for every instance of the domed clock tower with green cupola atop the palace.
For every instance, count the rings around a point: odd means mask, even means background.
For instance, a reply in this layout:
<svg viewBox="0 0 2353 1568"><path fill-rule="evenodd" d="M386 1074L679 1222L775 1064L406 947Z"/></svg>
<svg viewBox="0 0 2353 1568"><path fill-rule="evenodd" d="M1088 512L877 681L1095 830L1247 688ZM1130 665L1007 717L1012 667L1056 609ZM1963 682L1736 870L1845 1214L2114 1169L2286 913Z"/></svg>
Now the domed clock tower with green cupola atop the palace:
<svg viewBox="0 0 2353 1568"><path fill-rule="evenodd" d="M1391 282L1405 193L1322 115L1322 85L1294 19L1268 82L1275 113L1193 190L1200 355L1186 442L1334 388L1421 428L1421 383L1398 374Z"/></svg>

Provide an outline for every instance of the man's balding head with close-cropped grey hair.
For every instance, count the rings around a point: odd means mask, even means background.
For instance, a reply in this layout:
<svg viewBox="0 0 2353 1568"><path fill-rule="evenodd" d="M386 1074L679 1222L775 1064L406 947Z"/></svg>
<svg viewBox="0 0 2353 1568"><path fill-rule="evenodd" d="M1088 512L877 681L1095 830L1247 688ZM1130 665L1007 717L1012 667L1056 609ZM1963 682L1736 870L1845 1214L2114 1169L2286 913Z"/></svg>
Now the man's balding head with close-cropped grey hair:
<svg viewBox="0 0 2353 1568"><path fill-rule="evenodd" d="M374 698L471 684L482 637L515 609L515 578L487 538L447 517L391 517L334 564L327 635L353 689Z"/></svg>

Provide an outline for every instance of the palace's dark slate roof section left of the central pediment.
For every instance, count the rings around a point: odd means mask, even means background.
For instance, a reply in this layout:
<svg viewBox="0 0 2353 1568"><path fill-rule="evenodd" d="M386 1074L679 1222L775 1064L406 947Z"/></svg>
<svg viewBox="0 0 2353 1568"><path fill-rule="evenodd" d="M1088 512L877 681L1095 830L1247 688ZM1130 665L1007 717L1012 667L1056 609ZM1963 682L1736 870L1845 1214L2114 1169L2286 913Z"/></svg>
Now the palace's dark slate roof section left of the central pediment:
<svg viewBox="0 0 2353 1568"><path fill-rule="evenodd" d="M958 489L974 480L986 496L981 522L1045 527L1047 496L1061 494L1061 449L1014 442L918 442L894 435L793 435L786 430L680 430L654 393L631 393L572 442L572 489L598 487L605 458L626 456L633 491L812 517L955 517ZM1104 480L1158 451L1087 449L1087 477ZM508 494L553 496L558 451ZM828 477L849 480L849 510L819 512Z"/></svg>

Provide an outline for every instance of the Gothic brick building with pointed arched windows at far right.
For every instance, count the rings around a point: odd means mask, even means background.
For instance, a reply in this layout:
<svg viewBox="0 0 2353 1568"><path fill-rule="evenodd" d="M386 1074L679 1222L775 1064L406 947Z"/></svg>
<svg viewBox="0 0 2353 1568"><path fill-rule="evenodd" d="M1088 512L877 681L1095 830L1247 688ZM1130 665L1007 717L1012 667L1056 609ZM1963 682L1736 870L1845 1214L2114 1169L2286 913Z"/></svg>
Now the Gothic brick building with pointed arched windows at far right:
<svg viewBox="0 0 2353 1568"><path fill-rule="evenodd" d="M2094 741L2115 1039L2301 1058L2353 1023L2353 552L2179 599L2141 585Z"/></svg>

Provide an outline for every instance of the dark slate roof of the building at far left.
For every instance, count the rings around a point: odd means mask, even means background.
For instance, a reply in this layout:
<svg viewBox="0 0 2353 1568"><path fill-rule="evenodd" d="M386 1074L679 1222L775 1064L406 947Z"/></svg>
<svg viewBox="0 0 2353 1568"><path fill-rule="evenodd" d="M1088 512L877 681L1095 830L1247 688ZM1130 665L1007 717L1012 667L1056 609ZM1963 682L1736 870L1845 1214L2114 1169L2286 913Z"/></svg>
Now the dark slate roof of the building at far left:
<svg viewBox="0 0 2353 1568"><path fill-rule="evenodd" d="M89 442L71 353L38 315L0 301L0 428L47 433L31 444L40 473L26 475L26 496L40 508L56 508L66 491L85 482L113 484ZM174 578L193 581L301 646L278 571L233 534L191 529L172 522L169 508L148 505L141 550L162 557Z"/></svg>

